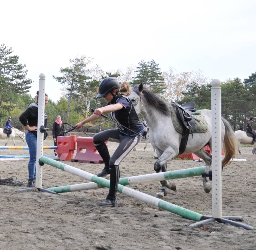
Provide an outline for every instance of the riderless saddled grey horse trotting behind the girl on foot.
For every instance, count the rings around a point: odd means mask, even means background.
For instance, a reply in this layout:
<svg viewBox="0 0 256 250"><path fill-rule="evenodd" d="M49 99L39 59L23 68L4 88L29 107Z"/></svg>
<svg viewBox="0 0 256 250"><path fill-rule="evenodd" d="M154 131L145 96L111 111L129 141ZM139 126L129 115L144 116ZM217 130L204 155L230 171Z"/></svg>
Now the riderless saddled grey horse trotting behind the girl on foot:
<svg viewBox="0 0 256 250"><path fill-rule="evenodd" d="M158 160L154 164L156 172L164 172L167 169L167 161L178 155L181 134L178 133L173 124L171 113L174 112L174 104L168 103L150 92L143 84L133 87L130 100L137 114L142 114L147 121L150 132L149 140L154 148ZM204 150L207 144L212 147L212 117L211 110L201 110L202 115L208 123L208 130L204 133L194 133L193 137L190 134L188 137L187 147L184 154L194 153L202 158L206 165L211 166L212 156ZM222 160L222 166L225 167L234 158L237 149L237 140L234 136L231 125L222 118L221 122L221 139L225 157ZM202 177L204 191L209 193L211 184L208 177ZM176 190L176 186L171 181L161 181L161 192L156 194L157 198L164 198L168 193L168 189Z"/></svg>

